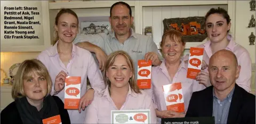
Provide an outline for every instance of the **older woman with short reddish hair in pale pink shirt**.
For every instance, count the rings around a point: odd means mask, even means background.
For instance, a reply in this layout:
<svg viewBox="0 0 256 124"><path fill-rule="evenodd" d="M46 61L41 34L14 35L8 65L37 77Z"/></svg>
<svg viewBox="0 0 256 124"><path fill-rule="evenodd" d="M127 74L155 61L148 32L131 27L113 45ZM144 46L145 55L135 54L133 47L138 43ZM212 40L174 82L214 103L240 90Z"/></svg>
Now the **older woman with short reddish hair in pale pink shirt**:
<svg viewBox="0 0 256 124"><path fill-rule="evenodd" d="M182 33L175 30L166 31L163 34L160 46L163 51L164 60L160 66L152 68L151 90L152 99L156 105L158 123L161 118L185 117L185 113L167 110L163 85L181 82L185 112L187 111L191 95L195 91L203 90L206 86L199 84L195 79L187 78L188 63L181 58L185 48Z"/></svg>

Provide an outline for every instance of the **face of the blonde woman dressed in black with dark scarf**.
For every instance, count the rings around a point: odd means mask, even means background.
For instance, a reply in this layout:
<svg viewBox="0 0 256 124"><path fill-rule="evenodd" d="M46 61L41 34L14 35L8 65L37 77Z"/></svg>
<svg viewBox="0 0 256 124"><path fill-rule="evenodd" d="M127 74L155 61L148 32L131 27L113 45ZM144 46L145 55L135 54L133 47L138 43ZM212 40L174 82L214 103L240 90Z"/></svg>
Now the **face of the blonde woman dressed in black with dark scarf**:
<svg viewBox="0 0 256 124"><path fill-rule="evenodd" d="M46 78L31 73L23 79L23 89L28 99L33 101L43 100L47 93Z"/></svg>

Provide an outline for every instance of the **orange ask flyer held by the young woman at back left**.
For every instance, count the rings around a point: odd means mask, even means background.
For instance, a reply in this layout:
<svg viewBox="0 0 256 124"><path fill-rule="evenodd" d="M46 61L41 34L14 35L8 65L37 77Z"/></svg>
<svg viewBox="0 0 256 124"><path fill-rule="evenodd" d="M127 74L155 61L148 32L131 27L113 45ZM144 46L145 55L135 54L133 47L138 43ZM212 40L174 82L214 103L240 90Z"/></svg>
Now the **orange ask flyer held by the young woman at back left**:
<svg viewBox="0 0 256 124"><path fill-rule="evenodd" d="M81 77L67 76L65 79L65 109L78 109L81 98Z"/></svg>

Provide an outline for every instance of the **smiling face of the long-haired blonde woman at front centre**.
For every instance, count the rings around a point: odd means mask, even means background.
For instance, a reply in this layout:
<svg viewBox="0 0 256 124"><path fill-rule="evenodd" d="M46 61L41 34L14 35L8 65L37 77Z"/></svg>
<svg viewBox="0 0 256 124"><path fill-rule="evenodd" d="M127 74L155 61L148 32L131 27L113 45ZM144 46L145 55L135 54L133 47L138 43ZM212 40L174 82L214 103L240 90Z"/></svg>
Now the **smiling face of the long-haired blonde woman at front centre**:
<svg viewBox="0 0 256 124"><path fill-rule="evenodd" d="M116 56L113 65L108 68L106 76L111 82L110 87L122 88L129 86L132 71L123 55Z"/></svg>

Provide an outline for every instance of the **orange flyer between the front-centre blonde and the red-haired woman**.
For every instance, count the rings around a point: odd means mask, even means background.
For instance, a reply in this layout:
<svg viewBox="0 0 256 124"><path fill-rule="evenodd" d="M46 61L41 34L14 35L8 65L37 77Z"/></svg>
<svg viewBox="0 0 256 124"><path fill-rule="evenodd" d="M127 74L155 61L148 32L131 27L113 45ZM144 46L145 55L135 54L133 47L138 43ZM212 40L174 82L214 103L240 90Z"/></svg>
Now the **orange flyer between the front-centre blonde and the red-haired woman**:
<svg viewBox="0 0 256 124"><path fill-rule="evenodd" d="M137 84L140 89L151 88L151 65L151 60L138 60Z"/></svg>

